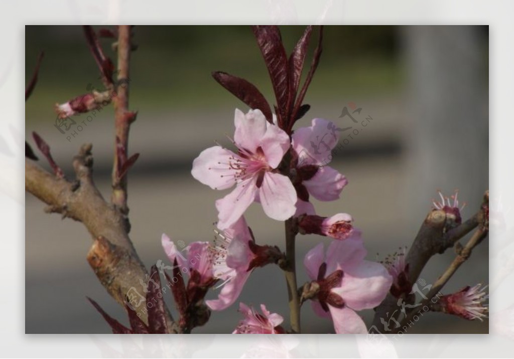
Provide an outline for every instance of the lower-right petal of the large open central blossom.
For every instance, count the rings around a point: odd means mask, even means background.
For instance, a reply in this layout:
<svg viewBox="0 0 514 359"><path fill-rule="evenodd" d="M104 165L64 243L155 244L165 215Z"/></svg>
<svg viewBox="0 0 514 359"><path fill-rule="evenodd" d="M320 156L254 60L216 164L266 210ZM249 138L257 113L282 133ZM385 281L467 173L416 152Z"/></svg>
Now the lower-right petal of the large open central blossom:
<svg viewBox="0 0 514 359"><path fill-rule="evenodd" d="M285 221L296 212L296 190L284 175L266 172L259 188L259 199L264 213L278 221Z"/></svg>

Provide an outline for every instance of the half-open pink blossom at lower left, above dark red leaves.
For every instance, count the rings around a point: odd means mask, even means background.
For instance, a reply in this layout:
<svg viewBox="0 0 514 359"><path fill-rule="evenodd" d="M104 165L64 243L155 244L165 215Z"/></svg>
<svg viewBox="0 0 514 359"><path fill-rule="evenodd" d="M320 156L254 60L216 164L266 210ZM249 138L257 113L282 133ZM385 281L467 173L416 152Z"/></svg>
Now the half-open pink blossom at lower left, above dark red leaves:
<svg viewBox="0 0 514 359"><path fill-rule="evenodd" d="M172 263L177 261L182 273L190 273L198 285L213 283L213 262L209 242L193 242L184 250L179 251L175 243L162 234L162 248Z"/></svg>

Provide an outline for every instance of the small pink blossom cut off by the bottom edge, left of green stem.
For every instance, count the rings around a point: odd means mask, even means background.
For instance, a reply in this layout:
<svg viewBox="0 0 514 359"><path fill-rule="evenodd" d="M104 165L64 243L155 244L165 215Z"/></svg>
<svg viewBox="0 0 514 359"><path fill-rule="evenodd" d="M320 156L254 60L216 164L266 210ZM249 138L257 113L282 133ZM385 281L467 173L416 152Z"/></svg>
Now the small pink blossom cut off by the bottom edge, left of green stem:
<svg viewBox="0 0 514 359"><path fill-rule="evenodd" d="M239 311L245 318L239 322L232 334L284 334L280 326L284 318L277 313L270 313L264 304L261 304L262 314L256 313L253 308L244 303L239 304Z"/></svg>

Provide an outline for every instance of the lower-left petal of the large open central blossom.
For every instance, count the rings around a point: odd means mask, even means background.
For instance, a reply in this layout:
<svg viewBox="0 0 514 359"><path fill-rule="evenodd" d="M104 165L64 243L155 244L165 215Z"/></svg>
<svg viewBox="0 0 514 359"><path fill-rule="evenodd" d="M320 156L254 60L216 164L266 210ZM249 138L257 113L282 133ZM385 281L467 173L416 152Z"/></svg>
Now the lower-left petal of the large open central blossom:
<svg viewBox="0 0 514 359"><path fill-rule="evenodd" d="M216 201L218 228L225 230L245 213L257 193L256 177L237 183L234 190Z"/></svg>

